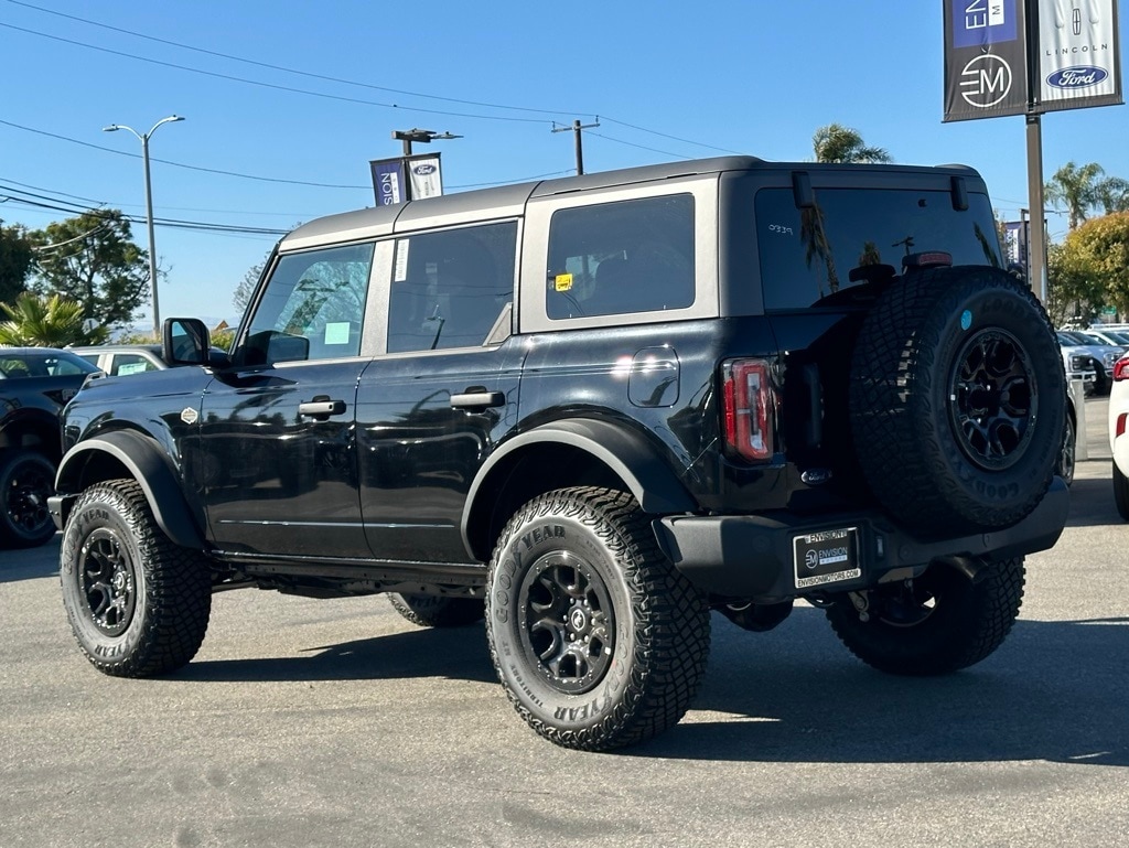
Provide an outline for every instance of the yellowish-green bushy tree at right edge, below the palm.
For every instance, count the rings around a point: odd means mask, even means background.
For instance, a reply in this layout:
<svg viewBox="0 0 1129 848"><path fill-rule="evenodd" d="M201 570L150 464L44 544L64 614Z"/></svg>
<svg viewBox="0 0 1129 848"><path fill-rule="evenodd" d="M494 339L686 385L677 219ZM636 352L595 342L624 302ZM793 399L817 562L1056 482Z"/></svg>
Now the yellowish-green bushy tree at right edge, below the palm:
<svg viewBox="0 0 1129 848"><path fill-rule="evenodd" d="M1094 218L1068 233L1049 252L1048 278L1053 296L1076 301L1084 318L1104 306L1129 312L1129 212Z"/></svg>

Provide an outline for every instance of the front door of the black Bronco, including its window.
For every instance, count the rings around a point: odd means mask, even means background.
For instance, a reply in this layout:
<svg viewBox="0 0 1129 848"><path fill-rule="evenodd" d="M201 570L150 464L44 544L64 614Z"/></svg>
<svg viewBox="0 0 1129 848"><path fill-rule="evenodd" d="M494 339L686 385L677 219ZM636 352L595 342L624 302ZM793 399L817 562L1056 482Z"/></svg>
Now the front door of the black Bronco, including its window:
<svg viewBox="0 0 1129 848"><path fill-rule="evenodd" d="M368 558L353 439L373 245L283 255L200 410L219 550Z"/></svg>

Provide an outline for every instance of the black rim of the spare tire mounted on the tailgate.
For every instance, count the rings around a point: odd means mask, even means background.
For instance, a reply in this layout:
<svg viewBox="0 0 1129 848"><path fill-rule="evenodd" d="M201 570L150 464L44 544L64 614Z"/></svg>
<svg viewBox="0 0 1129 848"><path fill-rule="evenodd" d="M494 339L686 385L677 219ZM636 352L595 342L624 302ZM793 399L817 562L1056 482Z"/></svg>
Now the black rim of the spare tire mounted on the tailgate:
<svg viewBox="0 0 1129 848"><path fill-rule="evenodd" d="M969 336L956 356L948 396L956 444L978 467L1003 471L1023 456L1038 404L1018 339L999 329Z"/></svg>

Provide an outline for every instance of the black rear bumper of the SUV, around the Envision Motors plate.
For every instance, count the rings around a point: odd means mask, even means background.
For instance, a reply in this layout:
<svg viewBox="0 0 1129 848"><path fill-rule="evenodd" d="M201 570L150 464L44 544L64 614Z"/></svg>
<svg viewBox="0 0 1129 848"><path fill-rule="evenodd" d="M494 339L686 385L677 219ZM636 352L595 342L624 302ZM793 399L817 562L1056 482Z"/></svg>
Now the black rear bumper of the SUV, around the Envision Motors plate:
<svg viewBox="0 0 1129 848"><path fill-rule="evenodd" d="M1051 548L1066 526L1070 496L1061 479L1035 510L1010 527L943 540L920 540L877 509L809 516L668 516L655 522L663 551L694 585L716 595L763 603L820 592L848 592L919 575L944 557L1006 559ZM797 586L797 536L857 528L858 568L851 579L817 589Z"/></svg>

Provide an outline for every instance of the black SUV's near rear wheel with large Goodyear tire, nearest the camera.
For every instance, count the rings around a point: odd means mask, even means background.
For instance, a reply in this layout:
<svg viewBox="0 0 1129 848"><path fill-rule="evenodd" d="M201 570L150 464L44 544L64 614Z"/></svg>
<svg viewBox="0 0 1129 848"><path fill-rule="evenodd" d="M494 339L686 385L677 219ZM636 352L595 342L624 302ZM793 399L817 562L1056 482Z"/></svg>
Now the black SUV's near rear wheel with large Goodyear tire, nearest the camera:
<svg viewBox="0 0 1129 848"><path fill-rule="evenodd" d="M485 613L510 701L564 748L657 735L689 709L706 670L706 596L624 492L562 489L526 504L490 560Z"/></svg>

